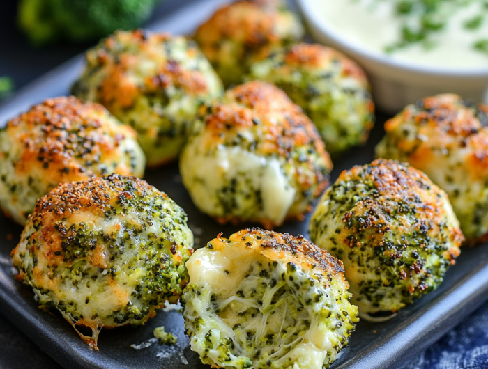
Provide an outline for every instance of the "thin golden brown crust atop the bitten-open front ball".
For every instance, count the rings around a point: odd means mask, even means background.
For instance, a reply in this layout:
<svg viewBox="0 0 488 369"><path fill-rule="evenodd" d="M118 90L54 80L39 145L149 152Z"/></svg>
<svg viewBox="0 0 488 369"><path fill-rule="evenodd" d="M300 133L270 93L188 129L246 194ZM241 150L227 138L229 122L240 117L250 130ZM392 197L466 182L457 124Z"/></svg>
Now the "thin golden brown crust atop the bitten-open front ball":
<svg viewBox="0 0 488 369"><path fill-rule="evenodd" d="M331 278L337 278L338 281L341 281L344 288L349 288L349 284L344 278L342 261L334 258L319 246L312 244L303 235L293 237L287 233L247 228L231 235L229 242L244 243L247 248L259 251L270 260L293 262L305 270L319 267L325 275L330 274ZM227 240L222 239L222 233L220 233L208 244L211 244L213 249L219 250L227 246Z"/></svg>

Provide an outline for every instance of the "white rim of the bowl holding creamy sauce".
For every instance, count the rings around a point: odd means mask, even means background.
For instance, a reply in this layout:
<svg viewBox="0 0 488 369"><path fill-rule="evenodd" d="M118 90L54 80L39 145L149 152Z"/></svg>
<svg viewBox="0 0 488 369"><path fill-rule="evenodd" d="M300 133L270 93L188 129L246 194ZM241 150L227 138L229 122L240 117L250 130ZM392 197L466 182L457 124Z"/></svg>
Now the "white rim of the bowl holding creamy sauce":
<svg viewBox="0 0 488 369"><path fill-rule="evenodd" d="M303 16L313 26L318 29L324 36L332 40L335 44L340 45L346 53L355 54L362 58L369 59L374 63L381 64L389 68L395 68L397 70L408 70L409 72L417 74L427 74L435 77L488 77L488 66L486 68L450 68L450 67L435 67L432 65L411 65L408 61L401 61L397 59L388 58L388 56L383 55L379 52L375 52L372 49L363 47L360 45L355 45L340 35L339 32L335 31L332 27L328 26L322 18L319 17L317 12L312 10L310 6L311 2L321 1L321 0L296 0L298 7L300 8ZM335 0L344 1L344 0Z"/></svg>

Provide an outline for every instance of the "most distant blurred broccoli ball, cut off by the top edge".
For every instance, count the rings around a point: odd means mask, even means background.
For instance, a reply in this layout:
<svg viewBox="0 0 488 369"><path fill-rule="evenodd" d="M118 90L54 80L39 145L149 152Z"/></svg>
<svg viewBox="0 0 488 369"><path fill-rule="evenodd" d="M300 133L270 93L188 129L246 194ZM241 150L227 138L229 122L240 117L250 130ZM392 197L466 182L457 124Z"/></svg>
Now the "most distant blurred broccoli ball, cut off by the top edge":
<svg viewBox="0 0 488 369"><path fill-rule="evenodd" d="M240 0L217 10L195 40L224 81L238 84L252 63L298 42L303 26L282 0Z"/></svg>

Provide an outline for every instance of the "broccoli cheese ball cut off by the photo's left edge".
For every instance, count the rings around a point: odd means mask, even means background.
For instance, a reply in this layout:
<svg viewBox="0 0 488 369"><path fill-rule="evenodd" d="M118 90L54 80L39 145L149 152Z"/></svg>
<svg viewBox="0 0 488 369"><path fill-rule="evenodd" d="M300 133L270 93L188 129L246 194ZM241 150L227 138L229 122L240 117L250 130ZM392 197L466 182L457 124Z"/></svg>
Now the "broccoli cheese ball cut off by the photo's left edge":
<svg viewBox="0 0 488 369"><path fill-rule="evenodd" d="M56 97L0 130L0 205L24 225L36 201L61 182L144 175L136 133L99 104Z"/></svg>

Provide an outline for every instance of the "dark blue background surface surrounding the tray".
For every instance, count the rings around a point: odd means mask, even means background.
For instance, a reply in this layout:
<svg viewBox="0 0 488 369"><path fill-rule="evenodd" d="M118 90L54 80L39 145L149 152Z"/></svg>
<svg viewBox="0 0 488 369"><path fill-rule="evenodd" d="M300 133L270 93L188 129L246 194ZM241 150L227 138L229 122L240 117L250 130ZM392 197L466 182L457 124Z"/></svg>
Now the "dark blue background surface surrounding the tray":
<svg viewBox="0 0 488 369"><path fill-rule="evenodd" d="M153 19L167 15L178 6L192 1L197 0L167 0L155 10ZM32 49L16 29L16 6L17 1L0 0L0 77L12 77L17 88L90 46L56 45L45 49ZM466 317L458 327L426 349L406 368L488 368L488 306L483 306L473 315ZM0 369L26 368L60 367L0 315Z"/></svg>

